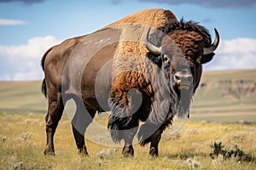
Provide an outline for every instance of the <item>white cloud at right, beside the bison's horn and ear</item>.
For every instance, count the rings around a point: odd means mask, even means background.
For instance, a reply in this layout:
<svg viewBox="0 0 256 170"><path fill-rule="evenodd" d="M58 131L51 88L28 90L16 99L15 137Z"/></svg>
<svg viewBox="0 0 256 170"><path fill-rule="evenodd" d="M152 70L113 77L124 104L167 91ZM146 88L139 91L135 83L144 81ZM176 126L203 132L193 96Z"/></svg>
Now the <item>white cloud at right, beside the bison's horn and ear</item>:
<svg viewBox="0 0 256 170"><path fill-rule="evenodd" d="M236 38L220 42L207 71L256 69L256 39Z"/></svg>

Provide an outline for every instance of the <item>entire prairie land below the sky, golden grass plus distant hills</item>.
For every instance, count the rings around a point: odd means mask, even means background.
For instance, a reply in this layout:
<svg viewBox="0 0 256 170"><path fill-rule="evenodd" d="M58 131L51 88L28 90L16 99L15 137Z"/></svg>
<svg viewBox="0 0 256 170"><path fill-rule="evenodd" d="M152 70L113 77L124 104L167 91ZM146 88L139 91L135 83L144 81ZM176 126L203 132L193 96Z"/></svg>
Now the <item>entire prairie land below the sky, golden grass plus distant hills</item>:
<svg viewBox="0 0 256 170"><path fill-rule="evenodd" d="M149 156L149 145L135 144L135 156L128 158L121 155L122 144L104 143L108 134L93 124L85 135L89 156L79 155L65 113L55 133L55 156L44 156L47 99L41 82L0 82L0 169L256 169L255 75L204 73L189 120L166 129L159 156ZM106 129L108 114L95 120Z"/></svg>

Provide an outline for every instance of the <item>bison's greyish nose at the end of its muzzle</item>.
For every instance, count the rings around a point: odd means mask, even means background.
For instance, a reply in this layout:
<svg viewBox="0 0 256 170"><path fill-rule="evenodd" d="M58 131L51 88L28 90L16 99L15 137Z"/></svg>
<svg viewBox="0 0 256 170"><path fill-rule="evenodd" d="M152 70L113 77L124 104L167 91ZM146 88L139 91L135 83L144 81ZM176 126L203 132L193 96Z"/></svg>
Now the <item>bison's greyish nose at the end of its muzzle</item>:
<svg viewBox="0 0 256 170"><path fill-rule="evenodd" d="M193 77L190 73L177 71L174 75L174 82L178 88L191 88Z"/></svg>

